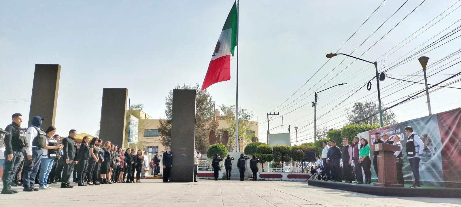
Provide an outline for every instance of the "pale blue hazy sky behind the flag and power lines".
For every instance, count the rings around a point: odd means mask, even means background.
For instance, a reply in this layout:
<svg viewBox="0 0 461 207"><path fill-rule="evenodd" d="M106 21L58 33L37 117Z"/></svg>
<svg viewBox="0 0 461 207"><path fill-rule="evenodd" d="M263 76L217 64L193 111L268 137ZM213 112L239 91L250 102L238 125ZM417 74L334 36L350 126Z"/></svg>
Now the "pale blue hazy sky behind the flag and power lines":
<svg viewBox="0 0 461 207"><path fill-rule="evenodd" d="M431 47L407 63L391 68L461 25L460 1L426 0L414 10L422 1L409 0L402 6L404 0L386 0L339 52L376 60L379 71L389 70L388 76L415 81L422 77L395 75L421 75L417 60L421 55L430 57L428 75L460 61L459 53L443 58L459 50L461 38L449 40L461 32L434 47L449 41L447 44L428 51L434 48ZM313 92L337 83L348 84L319 94L319 127L340 128L346 120L344 108L356 101L377 101L376 81L372 82L371 91L360 89L344 101L374 76L373 65L352 63L350 58L341 63L345 56L334 57L322 65L328 60L325 54L337 52L381 2L241 0L239 105L254 112L254 121L260 122L260 140L266 140L267 112L284 114L285 132L288 124L304 127L298 132L299 140L313 137L310 124ZM6 127L15 112L22 113L28 122L36 63L61 65L55 124L59 134L65 135L70 129L95 134L99 128L102 88L128 88L132 104L142 103L143 111L154 118L163 118L168 91L178 84L203 82L232 4L232 0L0 1L0 127ZM443 18L451 11L454 12ZM431 26L434 23L437 24ZM235 105L235 58L231 65L231 81L208 89L217 105ZM458 64L437 74L454 74L460 68ZM435 84L446 77L449 76L428 77L428 82ZM389 78L380 82L384 107L424 89L422 84L410 84ZM451 86L461 87L461 84ZM460 94L461 89L446 88L431 93L432 112L461 106ZM426 97L420 96L393 108L399 121L428 115ZM299 109L292 111L296 108ZM270 128L281 125L281 116L274 116L270 124ZM271 133L281 132L281 127L271 130ZM295 138L294 133L291 137Z"/></svg>

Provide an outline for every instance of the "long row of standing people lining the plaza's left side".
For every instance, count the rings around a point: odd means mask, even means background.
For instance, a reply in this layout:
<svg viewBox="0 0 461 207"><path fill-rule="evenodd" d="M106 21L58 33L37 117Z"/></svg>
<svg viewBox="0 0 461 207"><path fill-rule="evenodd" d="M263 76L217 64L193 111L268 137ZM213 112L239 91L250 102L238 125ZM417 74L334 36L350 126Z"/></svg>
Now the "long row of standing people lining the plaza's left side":
<svg viewBox="0 0 461 207"><path fill-rule="evenodd" d="M58 182L61 188L73 188L71 177L78 186L87 186L141 183L146 173L155 176L160 173L158 153L149 162L147 152L123 149L97 137L84 136L82 142L77 143L77 130L60 137L53 126L41 128L43 119L33 117L26 129L21 128L22 115L12 115L12 124L5 128L4 142L0 144L2 194L18 193L11 186L22 186L23 191L32 192L51 189L48 184Z"/></svg>

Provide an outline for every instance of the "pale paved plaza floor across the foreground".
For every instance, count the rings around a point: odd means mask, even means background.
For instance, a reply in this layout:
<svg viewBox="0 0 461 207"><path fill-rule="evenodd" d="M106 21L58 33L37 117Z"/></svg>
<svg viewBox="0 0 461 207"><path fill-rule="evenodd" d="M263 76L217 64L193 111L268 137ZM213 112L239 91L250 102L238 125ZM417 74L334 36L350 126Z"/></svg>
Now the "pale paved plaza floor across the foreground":
<svg viewBox="0 0 461 207"><path fill-rule="evenodd" d="M383 197L313 187L307 182L142 182L72 189L52 184L55 188L50 190L0 195L0 207L461 207L461 199Z"/></svg>

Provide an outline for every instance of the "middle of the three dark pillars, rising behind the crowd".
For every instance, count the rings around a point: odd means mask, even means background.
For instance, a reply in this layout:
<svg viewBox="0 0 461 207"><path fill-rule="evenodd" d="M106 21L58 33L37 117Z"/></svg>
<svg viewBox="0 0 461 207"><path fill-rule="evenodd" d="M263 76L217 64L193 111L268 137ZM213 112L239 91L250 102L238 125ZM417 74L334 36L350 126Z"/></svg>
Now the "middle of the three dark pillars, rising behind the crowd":
<svg viewBox="0 0 461 207"><path fill-rule="evenodd" d="M128 89L102 89L99 138L123 146ZM103 143L104 144L104 143Z"/></svg>

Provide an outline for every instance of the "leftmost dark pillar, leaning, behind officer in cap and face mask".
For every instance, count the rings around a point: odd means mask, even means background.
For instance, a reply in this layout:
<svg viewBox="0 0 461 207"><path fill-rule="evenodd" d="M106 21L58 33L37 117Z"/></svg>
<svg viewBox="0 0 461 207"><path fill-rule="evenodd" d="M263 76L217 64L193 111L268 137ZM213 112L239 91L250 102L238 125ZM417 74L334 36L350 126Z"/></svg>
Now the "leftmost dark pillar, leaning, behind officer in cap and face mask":
<svg viewBox="0 0 461 207"><path fill-rule="evenodd" d="M28 126L30 126L30 121L34 116L45 118L41 124L43 130L47 130L49 126L54 126L60 73L61 65L35 64Z"/></svg>

